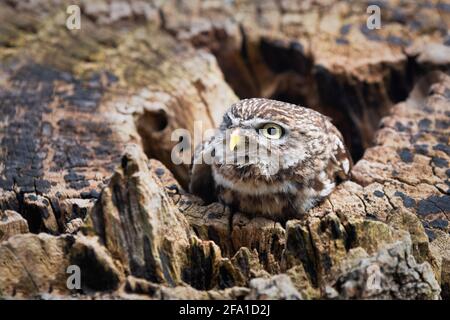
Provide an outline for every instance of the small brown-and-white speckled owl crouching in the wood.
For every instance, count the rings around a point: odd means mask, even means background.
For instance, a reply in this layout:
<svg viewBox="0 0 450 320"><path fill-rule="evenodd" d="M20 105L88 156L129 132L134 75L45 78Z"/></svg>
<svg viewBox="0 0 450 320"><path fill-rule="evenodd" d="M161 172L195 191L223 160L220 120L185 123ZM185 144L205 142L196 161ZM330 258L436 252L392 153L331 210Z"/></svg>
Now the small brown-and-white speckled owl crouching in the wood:
<svg viewBox="0 0 450 320"><path fill-rule="evenodd" d="M225 146L235 151L239 143L244 163L228 161L236 160L236 152L218 152ZM266 152L253 156L251 143ZM210 164L202 161L206 154ZM217 134L197 148L190 191L252 216L286 220L326 198L348 178L351 165L342 135L327 117L294 104L246 99L232 105Z"/></svg>

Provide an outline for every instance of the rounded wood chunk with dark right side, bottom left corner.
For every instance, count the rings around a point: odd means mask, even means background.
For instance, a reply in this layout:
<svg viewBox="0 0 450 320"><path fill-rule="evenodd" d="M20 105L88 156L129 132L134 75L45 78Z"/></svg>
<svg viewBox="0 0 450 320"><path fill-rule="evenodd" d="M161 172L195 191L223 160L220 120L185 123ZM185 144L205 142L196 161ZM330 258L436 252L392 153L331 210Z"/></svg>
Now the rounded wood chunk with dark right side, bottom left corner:
<svg viewBox="0 0 450 320"><path fill-rule="evenodd" d="M84 291L111 291L120 283L121 274L95 240L27 233L0 244L0 295L45 299L47 294L76 294L78 290L67 286L71 265L80 267Z"/></svg>

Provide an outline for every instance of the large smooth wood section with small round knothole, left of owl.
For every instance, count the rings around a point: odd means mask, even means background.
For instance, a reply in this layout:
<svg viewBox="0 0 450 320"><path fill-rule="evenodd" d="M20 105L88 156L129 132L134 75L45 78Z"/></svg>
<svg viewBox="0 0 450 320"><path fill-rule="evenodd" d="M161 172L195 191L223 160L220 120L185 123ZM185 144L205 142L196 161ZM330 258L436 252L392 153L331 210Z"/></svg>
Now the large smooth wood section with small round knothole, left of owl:
<svg viewBox="0 0 450 320"><path fill-rule="evenodd" d="M24 8L25 16L14 19L19 9L0 5L8 30L0 52L2 209L27 212L33 232L63 232L70 220L86 217L129 142L167 163L186 185L187 165L171 161L178 143L171 133L186 129L193 137L194 121L213 128L237 100L210 54L176 42L153 20L120 31L84 19L71 33L60 27L56 9L63 12L63 3L44 13ZM22 30L30 15L35 19ZM31 206L30 197L48 203ZM57 224L41 223L47 214Z"/></svg>

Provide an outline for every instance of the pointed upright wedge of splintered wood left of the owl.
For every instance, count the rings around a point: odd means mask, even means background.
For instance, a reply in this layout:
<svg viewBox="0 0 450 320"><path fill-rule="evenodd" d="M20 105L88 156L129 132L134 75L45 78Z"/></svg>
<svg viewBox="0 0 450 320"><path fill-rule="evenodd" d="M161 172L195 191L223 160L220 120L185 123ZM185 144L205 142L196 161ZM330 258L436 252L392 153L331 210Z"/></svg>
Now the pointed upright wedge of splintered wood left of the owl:
<svg viewBox="0 0 450 320"><path fill-rule="evenodd" d="M171 286L181 284L188 224L140 152L135 145L126 150L90 216L92 233L100 236L126 274Z"/></svg>

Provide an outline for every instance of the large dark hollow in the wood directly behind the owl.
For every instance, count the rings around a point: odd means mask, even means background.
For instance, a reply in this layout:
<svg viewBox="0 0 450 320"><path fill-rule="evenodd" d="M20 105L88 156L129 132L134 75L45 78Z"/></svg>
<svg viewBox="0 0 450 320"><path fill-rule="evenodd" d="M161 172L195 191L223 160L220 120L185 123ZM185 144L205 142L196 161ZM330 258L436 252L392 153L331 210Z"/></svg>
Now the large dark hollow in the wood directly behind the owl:
<svg viewBox="0 0 450 320"><path fill-rule="evenodd" d="M249 48L253 52L251 56ZM225 51L222 48L221 52ZM393 104L407 98L416 72L408 62L390 67L379 83L366 83L332 74L312 61L296 41L263 38L258 44L247 43L245 35L242 48L235 54L229 50L227 55L219 50L212 52L226 81L241 99L280 100L330 117L344 136L354 162L373 145L381 118L388 115ZM230 57L234 59L233 64ZM261 75L267 74L269 78L261 80Z"/></svg>

